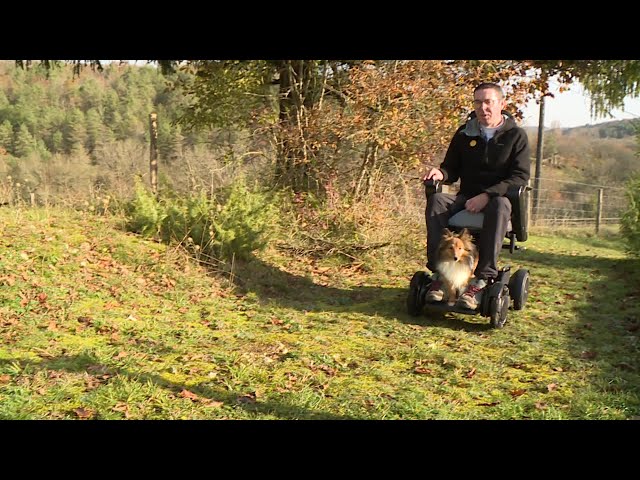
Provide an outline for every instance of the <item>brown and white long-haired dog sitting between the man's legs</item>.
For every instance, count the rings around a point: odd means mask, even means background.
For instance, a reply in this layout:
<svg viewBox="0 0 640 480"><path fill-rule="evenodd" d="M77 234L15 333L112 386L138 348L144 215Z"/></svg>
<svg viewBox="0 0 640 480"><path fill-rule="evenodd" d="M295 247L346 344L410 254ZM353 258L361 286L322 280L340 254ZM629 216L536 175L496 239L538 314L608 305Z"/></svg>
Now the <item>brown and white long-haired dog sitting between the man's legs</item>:
<svg viewBox="0 0 640 480"><path fill-rule="evenodd" d="M477 266L478 248L469 231L465 228L460 233L453 233L445 228L438 245L436 265L444 290L443 301L446 300L449 305L456 302Z"/></svg>

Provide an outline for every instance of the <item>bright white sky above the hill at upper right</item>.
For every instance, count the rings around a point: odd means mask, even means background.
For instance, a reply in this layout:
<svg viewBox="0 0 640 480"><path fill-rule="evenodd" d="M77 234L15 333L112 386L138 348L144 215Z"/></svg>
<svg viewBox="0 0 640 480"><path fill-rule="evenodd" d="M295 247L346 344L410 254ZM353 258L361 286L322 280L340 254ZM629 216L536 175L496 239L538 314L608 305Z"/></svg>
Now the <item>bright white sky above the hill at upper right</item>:
<svg viewBox="0 0 640 480"><path fill-rule="evenodd" d="M551 90L555 98L547 97L544 106L545 128L573 128L583 125L594 125L602 122L640 118L640 98L627 98L624 109L613 110L613 117L591 118L590 100L585 95L581 85L571 87L571 90L558 93ZM524 109L523 126L537 127L540 120L540 105L535 101L529 102Z"/></svg>

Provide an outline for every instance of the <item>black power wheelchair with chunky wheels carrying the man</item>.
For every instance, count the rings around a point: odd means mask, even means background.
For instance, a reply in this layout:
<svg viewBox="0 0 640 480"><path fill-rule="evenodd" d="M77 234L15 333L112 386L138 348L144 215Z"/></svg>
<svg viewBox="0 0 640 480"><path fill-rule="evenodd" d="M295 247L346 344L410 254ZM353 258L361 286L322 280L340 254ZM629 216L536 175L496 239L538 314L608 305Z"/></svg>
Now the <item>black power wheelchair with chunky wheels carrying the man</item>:
<svg viewBox="0 0 640 480"><path fill-rule="evenodd" d="M431 195L442 191L442 182L431 179L426 180L424 187L428 202ZM502 248L508 249L509 253L522 248L516 245L516 240L519 242L527 240L530 190L531 187L528 186L510 187L505 195L511 202L512 208L511 220L505 236L508 242L504 243ZM449 219L448 228L453 231L461 231L463 228L467 228L474 237L477 237L477 234L482 229L483 221L484 214L482 212L470 213L462 210ZM509 308L522 310L529 295L529 271L521 268L511 275L510 266L503 267L498 272L497 278L487 285L480 304L475 310L456 305L447 305L446 302L425 302L424 298L431 286L431 281L431 276L425 271L414 273L409 283L409 294L407 296L407 311L409 315L418 316L423 314L425 310L469 315L480 314L490 318L493 328L502 328L507 321ZM511 300L513 300L513 305L511 305Z"/></svg>

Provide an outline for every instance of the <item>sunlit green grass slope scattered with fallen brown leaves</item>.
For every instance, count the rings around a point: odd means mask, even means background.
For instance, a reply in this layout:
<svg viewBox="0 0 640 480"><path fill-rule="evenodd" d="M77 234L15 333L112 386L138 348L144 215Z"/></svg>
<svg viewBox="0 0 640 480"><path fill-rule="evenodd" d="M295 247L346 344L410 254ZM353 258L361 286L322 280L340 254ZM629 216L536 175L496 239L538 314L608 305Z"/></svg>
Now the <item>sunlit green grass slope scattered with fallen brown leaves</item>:
<svg viewBox="0 0 640 480"><path fill-rule="evenodd" d="M615 233L505 251L530 295L494 330L406 313L421 245L367 270L271 250L232 286L118 227L0 210L0 419L640 415L640 264Z"/></svg>

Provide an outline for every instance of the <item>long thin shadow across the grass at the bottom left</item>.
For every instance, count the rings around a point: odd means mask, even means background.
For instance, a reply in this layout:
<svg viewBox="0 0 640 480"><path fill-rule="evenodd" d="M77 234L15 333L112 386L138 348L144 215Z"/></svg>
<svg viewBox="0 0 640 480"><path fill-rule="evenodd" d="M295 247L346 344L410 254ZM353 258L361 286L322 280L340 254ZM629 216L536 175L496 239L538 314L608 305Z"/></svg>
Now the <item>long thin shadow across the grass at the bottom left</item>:
<svg viewBox="0 0 640 480"><path fill-rule="evenodd" d="M100 375L108 374L111 377L118 375L140 383L153 383L154 385L170 391L174 395L179 395L183 390L188 390L199 397L216 402L223 402L225 405L233 405L236 408L242 408L251 413L273 415L283 420L357 420L355 417L339 416L322 411L311 411L284 402L262 402L259 400L253 402L248 400L241 392L229 392L223 388L212 388L203 383L187 387L180 383L167 381L157 375L134 373L122 368L101 365L96 357L87 354L71 356L63 355L43 359L40 362L24 359L0 359L0 365L2 364L17 364L21 368L28 368L30 370L64 370L72 373L95 372Z"/></svg>

